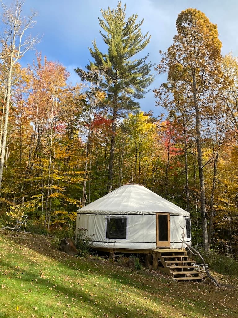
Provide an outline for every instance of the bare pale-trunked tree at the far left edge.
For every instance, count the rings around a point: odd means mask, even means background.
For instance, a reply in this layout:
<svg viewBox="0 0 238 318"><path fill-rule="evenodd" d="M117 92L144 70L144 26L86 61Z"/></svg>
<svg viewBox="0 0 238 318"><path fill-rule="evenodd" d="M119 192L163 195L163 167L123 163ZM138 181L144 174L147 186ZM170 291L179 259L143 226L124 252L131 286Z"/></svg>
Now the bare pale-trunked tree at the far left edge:
<svg viewBox="0 0 238 318"><path fill-rule="evenodd" d="M34 21L36 13L32 13L29 17L23 16L23 3L23 0L16 0L10 8L7 8L3 2L1 2L5 31L3 32L3 36L0 38L2 46L0 59L2 60L5 68L7 86L5 93L6 105L0 157L0 189L5 159L11 88L14 84L12 83L12 73L17 61L25 54L25 52L30 50L38 42L37 38L26 37L26 31L32 28L36 23L36 21Z"/></svg>

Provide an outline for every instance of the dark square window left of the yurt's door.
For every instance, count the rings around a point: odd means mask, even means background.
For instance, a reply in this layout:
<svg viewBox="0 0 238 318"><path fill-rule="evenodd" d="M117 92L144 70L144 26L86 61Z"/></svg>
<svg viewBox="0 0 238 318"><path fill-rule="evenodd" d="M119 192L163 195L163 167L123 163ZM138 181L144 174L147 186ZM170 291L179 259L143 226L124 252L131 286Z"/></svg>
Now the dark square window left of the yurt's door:
<svg viewBox="0 0 238 318"><path fill-rule="evenodd" d="M127 217L107 217L107 239L126 239Z"/></svg>

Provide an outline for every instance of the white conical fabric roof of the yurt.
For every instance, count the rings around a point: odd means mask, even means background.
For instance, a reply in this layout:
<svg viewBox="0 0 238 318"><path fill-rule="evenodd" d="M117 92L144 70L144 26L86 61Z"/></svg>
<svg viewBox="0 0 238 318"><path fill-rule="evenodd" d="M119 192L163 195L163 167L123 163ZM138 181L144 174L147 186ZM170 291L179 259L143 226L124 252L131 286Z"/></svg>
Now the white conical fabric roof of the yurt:
<svg viewBox="0 0 238 318"><path fill-rule="evenodd" d="M89 203L77 212L96 214L149 214L165 212L172 215L190 216L187 211L139 184L122 185L120 188Z"/></svg>

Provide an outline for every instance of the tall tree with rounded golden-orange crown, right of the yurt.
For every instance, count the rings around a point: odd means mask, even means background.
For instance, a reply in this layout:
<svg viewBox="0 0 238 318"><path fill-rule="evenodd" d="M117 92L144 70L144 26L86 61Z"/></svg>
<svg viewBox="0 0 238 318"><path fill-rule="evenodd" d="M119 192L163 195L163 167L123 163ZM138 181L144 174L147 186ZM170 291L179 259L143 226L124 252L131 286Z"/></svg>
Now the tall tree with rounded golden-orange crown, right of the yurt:
<svg viewBox="0 0 238 318"><path fill-rule="evenodd" d="M217 27L199 10L182 11L176 20L177 35L169 47L159 72L168 72L168 80L180 82L191 97L195 117L196 146L200 182L203 246L208 250L207 212L203 174L202 116L215 105L217 82L220 80L221 41Z"/></svg>

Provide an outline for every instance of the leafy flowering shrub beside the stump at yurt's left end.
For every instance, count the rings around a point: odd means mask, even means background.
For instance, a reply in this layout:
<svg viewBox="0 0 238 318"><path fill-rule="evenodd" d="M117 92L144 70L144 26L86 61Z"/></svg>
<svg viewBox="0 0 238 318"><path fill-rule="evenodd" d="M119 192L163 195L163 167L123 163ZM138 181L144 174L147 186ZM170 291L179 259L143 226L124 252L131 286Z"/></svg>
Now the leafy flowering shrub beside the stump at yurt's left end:
<svg viewBox="0 0 238 318"><path fill-rule="evenodd" d="M95 234L87 235L87 229L83 227L77 229L76 236L73 238L74 244L80 256L87 256L91 250L91 240Z"/></svg>

